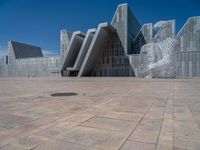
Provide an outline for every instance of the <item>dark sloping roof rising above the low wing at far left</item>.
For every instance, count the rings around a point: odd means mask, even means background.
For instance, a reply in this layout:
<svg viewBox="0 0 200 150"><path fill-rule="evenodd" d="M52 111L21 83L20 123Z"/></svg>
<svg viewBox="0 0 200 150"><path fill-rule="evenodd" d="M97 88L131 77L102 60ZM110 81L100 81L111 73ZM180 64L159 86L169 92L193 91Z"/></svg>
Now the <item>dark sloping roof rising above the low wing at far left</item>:
<svg viewBox="0 0 200 150"><path fill-rule="evenodd" d="M43 57L42 49L37 46L11 41L16 59Z"/></svg>

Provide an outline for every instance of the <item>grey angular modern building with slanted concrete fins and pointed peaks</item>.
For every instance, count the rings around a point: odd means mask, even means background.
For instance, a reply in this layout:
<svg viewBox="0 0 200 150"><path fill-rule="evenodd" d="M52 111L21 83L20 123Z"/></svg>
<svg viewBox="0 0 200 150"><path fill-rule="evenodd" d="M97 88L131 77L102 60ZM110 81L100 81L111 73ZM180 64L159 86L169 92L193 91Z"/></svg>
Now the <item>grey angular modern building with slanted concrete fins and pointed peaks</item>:
<svg viewBox="0 0 200 150"><path fill-rule="evenodd" d="M87 33L61 30L60 56L43 57L35 46L9 42L0 76L137 77L139 54L147 43L178 41L176 77L200 77L200 17L191 17L178 34L175 20L140 25L127 4L118 6L111 23Z"/></svg>

